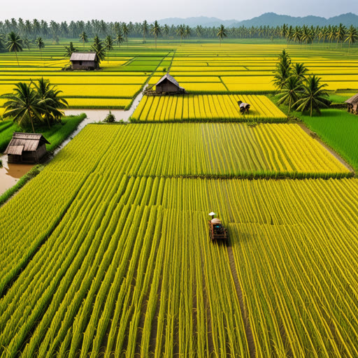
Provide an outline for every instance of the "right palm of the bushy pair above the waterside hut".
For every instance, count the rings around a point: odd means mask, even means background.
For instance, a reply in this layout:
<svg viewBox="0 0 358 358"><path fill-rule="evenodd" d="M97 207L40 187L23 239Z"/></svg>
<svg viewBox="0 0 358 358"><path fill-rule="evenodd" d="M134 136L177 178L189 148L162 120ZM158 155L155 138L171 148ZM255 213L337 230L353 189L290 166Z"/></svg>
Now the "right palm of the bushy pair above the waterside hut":
<svg viewBox="0 0 358 358"><path fill-rule="evenodd" d="M56 90L55 86L51 87L49 80L40 78L37 80L37 83L33 84L40 99L38 105L43 108L45 119L50 128L50 122L59 121L64 115L60 109L66 108L69 103L62 96L59 96L62 91Z"/></svg>

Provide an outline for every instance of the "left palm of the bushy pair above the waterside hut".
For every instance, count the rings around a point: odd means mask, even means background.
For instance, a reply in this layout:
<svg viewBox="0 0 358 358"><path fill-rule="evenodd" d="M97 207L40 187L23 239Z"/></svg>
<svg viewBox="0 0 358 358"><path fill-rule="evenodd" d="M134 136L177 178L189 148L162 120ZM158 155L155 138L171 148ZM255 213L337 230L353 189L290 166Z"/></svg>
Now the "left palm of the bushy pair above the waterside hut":
<svg viewBox="0 0 358 358"><path fill-rule="evenodd" d="M14 92L15 94L9 93L1 96L1 98L8 99L3 105L6 108L3 117L13 117L14 122L22 128L31 124L32 131L35 133L34 122L43 121L41 116L43 106L41 106L38 94L30 83L21 82L15 85Z"/></svg>

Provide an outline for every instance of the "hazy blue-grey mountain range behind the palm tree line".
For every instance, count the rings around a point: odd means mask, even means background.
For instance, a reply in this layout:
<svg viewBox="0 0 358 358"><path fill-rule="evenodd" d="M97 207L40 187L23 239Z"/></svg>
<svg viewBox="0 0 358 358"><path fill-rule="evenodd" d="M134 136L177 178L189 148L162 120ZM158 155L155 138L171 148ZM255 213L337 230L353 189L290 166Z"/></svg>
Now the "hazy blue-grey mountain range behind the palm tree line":
<svg viewBox="0 0 358 358"><path fill-rule="evenodd" d="M338 25L344 24L345 26L358 26L358 15L354 13L342 14L326 19L325 17L320 16L304 16L304 17L294 17L289 15L278 15L276 13L264 13L260 16L253 17L250 20L220 20L217 17L187 17L186 19L181 19L179 17L169 17L167 19L159 20L159 24L168 24L178 26L180 24L189 25L189 27L196 27L201 25L203 27L218 27L220 24L223 24L225 27L252 27L252 26L264 26L270 25L271 27L282 26L283 24L288 24L292 26L302 26L313 25L313 26L324 26L324 25Z"/></svg>

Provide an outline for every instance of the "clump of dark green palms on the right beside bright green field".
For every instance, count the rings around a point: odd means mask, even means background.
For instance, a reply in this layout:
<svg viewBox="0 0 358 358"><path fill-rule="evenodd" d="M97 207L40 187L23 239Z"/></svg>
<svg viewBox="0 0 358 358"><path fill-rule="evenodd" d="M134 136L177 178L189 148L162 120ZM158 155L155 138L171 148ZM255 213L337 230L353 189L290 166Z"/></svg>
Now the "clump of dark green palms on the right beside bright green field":
<svg viewBox="0 0 358 358"><path fill-rule="evenodd" d="M320 114L320 108L327 108L331 101L321 83L321 78L313 75L306 76L308 69L303 63L292 64L286 50L282 50L278 57L278 64L274 71L273 83L279 94L278 105L288 105L288 113L292 109L301 112L313 110Z"/></svg>

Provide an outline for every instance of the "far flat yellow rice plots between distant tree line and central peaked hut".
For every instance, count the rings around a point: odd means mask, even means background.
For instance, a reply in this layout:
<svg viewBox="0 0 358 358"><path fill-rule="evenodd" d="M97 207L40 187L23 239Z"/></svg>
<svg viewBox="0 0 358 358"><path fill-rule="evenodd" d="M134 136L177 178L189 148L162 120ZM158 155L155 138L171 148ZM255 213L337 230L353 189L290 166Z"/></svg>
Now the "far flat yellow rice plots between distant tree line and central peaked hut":
<svg viewBox="0 0 358 358"><path fill-rule="evenodd" d="M75 44L78 41L74 42ZM78 43L79 50L89 45ZM93 98L90 107L110 108L109 99L133 99L145 82L155 85L170 70L179 83L192 94L264 94L273 92L273 69L278 53L286 45L277 43L223 43L182 45L160 43L158 51L148 44L134 43L130 48L115 48L109 60L101 63L102 71L61 71L68 64L63 57L63 45L48 44L43 59L35 49L19 54L20 66L10 53L0 54L0 92L12 90L7 84L48 78L66 98ZM328 45L287 48L293 62L303 62L309 73L315 73L327 83L327 90L358 90L358 59L353 52L349 58L338 48ZM6 81L5 81L6 80ZM77 87L78 85L85 87ZM103 89L101 85L112 85ZM115 87L129 85L129 87ZM138 85L134 89L134 85ZM88 87L88 88L87 88ZM108 102L103 104L103 99ZM96 99L101 99L96 101Z"/></svg>

